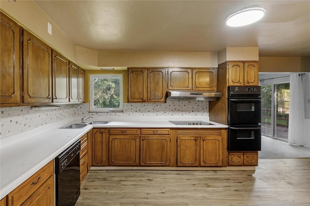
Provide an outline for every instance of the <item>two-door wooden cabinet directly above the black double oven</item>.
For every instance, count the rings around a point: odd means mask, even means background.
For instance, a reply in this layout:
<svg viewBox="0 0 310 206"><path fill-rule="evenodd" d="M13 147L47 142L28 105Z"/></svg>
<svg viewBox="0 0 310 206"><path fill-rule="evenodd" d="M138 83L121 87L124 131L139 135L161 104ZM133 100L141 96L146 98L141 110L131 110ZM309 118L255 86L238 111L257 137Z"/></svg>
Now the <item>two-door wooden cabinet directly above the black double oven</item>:
<svg viewBox="0 0 310 206"><path fill-rule="evenodd" d="M258 86L258 62L228 62L229 86Z"/></svg>

